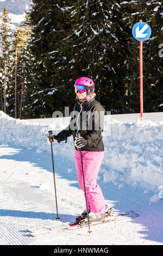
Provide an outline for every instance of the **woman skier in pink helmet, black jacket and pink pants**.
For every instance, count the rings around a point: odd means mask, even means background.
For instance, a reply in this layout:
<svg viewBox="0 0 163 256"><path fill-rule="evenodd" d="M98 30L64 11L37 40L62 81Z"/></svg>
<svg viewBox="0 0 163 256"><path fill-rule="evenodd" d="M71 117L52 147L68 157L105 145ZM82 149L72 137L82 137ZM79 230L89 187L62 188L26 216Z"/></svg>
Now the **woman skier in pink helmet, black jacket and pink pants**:
<svg viewBox="0 0 163 256"><path fill-rule="evenodd" d="M48 139L51 142L60 143L67 141L67 137L73 135L78 181L80 188L84 191L80 150L82 153L89 222L105 220L111 209L105 205L103 193L97 184L97 175L104 157L101 133L105 109L95 100L95 83L91 78L78 78L74 84L74 90L78 102L74 106L74 116L71 118L70 124L57 136L50 135ZM80 137L77 137L78 132L80 132ZM87 221L87 210L84 210L81 215L85 222Z"/></svg>

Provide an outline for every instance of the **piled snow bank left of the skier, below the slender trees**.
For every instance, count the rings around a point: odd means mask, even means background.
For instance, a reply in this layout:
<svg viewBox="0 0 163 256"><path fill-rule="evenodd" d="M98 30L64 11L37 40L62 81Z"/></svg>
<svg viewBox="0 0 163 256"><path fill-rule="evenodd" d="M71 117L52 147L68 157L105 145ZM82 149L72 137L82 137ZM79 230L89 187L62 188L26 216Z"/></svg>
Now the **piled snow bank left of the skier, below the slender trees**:
<svg viewBox="0 0 163 256"><path fill-rule="evenodd" d="M64 127L64 124L59 123L30 123L26 120L11 118L0 111L0 143L16 145L34 150L36 153L49 151L49 145L46 142L49 130L53 130L55 134ZM59 145L56 146L55 148L60 148Z"/></svg>

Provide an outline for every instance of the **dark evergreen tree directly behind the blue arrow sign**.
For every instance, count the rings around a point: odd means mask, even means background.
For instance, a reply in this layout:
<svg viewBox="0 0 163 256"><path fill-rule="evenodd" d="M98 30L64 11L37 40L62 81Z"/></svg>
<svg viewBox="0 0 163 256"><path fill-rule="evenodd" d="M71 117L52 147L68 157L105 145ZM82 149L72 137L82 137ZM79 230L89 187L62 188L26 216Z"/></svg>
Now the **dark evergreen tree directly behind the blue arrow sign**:
<svg viewBox="0 0 163 256"><path fill-rule="evenodd" d="M121 2L121 1L120 1ZM127 26L128 93L122 98L123 106L128 103L128 113L140 112L139 80L139 41L131 35L131 29L140 20L147 22L152 29L151 38L143 42L143 110L162 111L162 65L159 57L159 44L162 38L162 5L158 1L125 1L120 4L125 14L123 23ZM150 102L150 103L149 103ZM124 108L123 108L124 110Z"/></svg>

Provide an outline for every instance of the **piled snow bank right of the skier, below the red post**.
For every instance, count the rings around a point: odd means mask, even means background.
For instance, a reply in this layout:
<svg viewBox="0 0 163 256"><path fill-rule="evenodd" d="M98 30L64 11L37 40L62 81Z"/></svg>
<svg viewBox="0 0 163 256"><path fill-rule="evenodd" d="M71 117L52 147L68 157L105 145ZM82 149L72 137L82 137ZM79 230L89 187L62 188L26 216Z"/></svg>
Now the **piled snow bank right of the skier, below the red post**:
<svg viewBox="0 0 163 256"><path fill-rule="evenodd" d="M104 135L101 172L105 182L139 184L153 190L163 185L163 121L124 123L112 119L110 136L107 129Z"/></svg>

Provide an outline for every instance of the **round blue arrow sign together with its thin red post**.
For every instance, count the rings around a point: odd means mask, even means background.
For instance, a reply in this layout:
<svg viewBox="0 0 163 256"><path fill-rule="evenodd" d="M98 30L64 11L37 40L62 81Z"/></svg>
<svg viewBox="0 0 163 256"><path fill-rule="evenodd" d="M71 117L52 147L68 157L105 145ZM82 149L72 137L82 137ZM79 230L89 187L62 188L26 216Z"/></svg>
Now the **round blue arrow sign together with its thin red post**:
<svg viewBox="0 0 163 256"><path fill-rule="evenodd" d="M144 33L145 32L145 33ZM151 28L145 22L140 20L132 29L133 36L140 41L140 118L143 121L143 58L142 58L142 41L145 41L151 36Z"/></svg>

